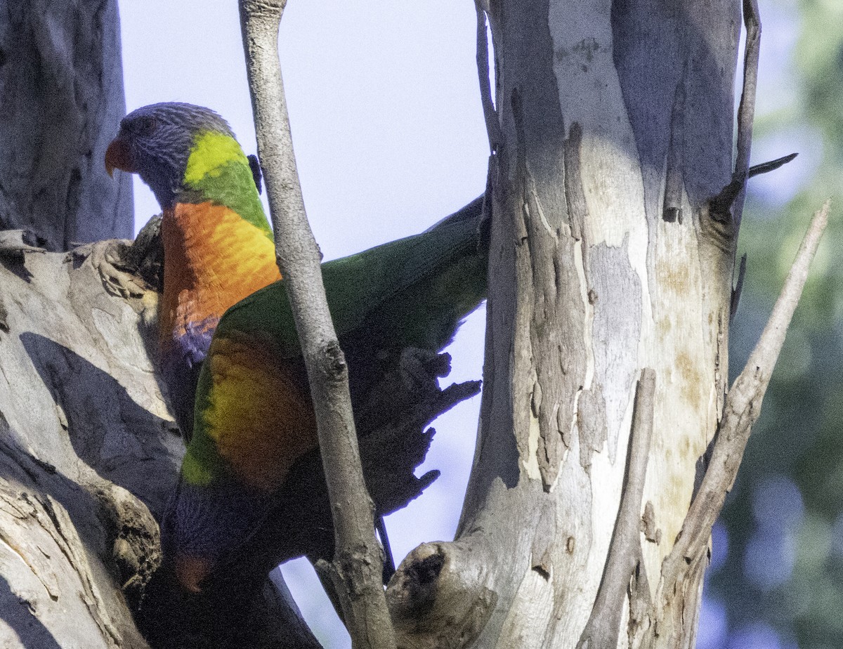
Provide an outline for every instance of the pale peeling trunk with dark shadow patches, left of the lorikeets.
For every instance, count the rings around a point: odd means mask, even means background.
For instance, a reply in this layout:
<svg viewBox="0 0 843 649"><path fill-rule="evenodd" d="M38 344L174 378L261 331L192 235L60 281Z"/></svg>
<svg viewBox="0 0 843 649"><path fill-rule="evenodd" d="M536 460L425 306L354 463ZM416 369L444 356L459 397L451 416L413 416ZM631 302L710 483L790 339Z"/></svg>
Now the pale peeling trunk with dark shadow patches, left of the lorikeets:
<svg viewBox="0 0 843 649"><path fill-rule="evenodd" d="M183 453L147 354L157 293L106 279L104 244L17 234L0 246L0 644L147 646L126 598L157 566Z"/></svg>

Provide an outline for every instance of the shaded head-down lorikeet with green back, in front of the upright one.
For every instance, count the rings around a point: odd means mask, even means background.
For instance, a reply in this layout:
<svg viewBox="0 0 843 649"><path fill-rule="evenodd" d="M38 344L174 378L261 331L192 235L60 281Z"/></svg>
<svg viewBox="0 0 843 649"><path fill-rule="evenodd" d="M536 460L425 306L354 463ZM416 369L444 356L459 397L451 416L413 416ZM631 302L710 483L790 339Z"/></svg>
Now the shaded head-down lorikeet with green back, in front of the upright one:
<svg viewBox="0 0 843 649"><path fill-rule="evenodd" d="M322 266L346 354L352 405L376 364L408 347L440 351L486 296L485 260L471 221L377 246ZM196 393L194 434L162 534L182 585L201 580L258 528L316 426L285 282L229 308Z"/></svg>

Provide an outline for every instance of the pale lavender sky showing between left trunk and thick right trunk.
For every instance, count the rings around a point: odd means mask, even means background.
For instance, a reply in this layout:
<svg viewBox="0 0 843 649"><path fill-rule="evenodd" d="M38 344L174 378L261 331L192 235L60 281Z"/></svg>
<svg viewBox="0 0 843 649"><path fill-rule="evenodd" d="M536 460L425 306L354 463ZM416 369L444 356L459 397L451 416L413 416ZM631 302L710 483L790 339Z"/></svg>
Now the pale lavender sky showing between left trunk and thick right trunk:
<svg viewBox="0 0 843 649"><path fill-rule="evenodd" d="M127 110L206 105L255 153L237 3L120 0L120 12ZM290 0L280 49L304 201L325 259L418 233L481 194L488 149L469 0ZM158 212L137 177L135 211L137 227ZM484 319L481 309L464 324L445 384L481 378ZM479 406L475 397L435 422L418 475L443 475L387 519L396 562L423 541L453 539ZM325 620L330 604L305 597L318 585L295 563L285 575L314 631L328 646L350 646L339 621Z"/></svg>

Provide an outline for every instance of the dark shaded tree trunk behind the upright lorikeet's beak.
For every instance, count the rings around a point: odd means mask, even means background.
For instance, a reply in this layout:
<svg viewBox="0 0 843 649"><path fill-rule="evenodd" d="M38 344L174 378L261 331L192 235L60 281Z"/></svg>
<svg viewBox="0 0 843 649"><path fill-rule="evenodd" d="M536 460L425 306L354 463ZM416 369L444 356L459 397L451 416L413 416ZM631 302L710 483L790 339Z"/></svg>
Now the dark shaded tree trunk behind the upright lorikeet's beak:
<svg viewBox="0 0 843 649"><path fill-rule="evenodd" d="M123 115L116 0L0 12L0 228L50 250L132 236L132 181L105 173Z"/></svg>

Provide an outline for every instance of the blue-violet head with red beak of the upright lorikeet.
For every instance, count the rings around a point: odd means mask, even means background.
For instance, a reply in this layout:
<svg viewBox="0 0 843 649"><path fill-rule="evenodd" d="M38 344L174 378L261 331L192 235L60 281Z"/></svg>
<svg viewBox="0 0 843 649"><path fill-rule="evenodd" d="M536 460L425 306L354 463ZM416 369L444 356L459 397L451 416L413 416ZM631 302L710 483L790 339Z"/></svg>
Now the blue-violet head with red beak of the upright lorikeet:
<svg viewBox="0 0 843 649"><path fill-rule="evenodd" d="M114 169L140 175L162 209L170 207L184 189L196 140L207 133L234 140L228 122L208 108L178 102L143 106L121 120L105 152L105 169L109 175Z"/></svg>

